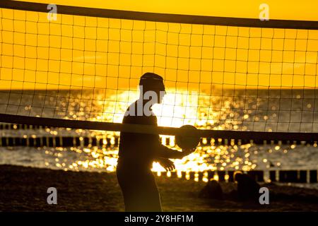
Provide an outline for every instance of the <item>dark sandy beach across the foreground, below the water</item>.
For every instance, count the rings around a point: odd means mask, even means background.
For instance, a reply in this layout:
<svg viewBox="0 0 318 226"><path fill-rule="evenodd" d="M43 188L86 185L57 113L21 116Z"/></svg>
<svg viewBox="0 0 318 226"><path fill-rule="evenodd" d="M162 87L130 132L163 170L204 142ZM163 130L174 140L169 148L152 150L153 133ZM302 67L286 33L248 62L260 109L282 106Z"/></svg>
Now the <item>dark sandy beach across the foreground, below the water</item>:
<svg viewBox="0 0 318 226"><path fill-rule="evenodd" d="M318 211L318 190L262 184L269 205L229 198L198 198L204 182L156 177L164 211ZM47 188L57 188L57 205L47 204ZM233 183L221 183L227 194ZM64 172L0 165L0 211L123 211L115 173Z"/></svg>

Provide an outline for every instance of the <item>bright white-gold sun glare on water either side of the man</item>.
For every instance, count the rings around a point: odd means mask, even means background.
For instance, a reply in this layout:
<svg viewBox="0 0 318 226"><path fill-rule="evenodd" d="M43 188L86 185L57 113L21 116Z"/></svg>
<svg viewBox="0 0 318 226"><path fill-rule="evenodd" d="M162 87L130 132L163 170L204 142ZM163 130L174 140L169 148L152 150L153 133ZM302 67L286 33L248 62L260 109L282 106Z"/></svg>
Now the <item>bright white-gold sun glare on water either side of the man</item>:
<svg viewBox="0 0 318 226"><path fill-rule="evenodd" d="M98 102L100 112L102 114L97 117L90 118L91 121L113 121L122 122L122 117L126 108L131 102L134 102L139 97L137 92L125 91L117 93L116 97L111 96L104 102ZM200 99L201 98L201 99ZM199 102L208 101L207 97L200 97L197 93L189 93L187 91L167 92L162 105L154 105L153 112L158 118L158 126L173 126L179 127L185 124L191 124L197 128L213 129L215 119L220 115L220 112L213 111L213 105L206 108L198 108ZM204 99L206 98L206 100ZM211 98L211 97L209 97ZM225 105L227 101L225 100ZM114 112L121 112L115 114ZM223 114L230 115L225 109L221 109ZM232 124L235 121L232 121ZM224 124L216 124L216 129L225 128ZM79 132L83 133L82 130ZM57 161L54 162L55 167L64 168L65 170L106 170L107 172L114 172L116 170L118 158L118 146L114 145L115 138L119 136L119 132L111 131L90 131L90 136L96 136L102 139L103 146L98 148L90 146L88 148L61 148ZM160 135L162 143L177 150L181 150L175 144L174 136ZM120 142L120 141L119 141ZM247 145L218 145L217 141L206 138L202 139L200 146L196 148L196 152L184 157L182 160L174 160L176 166L177 177L184 177L190 179L190 172L194 172L194 179L198 180L198 175L203 174L202 180L207 181L207 171L210 170L225 170L225 169L242 169L248 171L257 167L256 162L249 159L249 150L253 148L251 144ZM74 157L73 162L65 160L63 150L68 150L68 153L77 153L81 155L81 160ZM48 155L53 155L54 152L47 151ZM54 153L56 155L56 151ZM64 162L63 162L64 161ZM47 162L46 165L50 163ZM52 164L51 164L52 165ZM166 174L165 169L161 167L158 162L153 163L153 172L158 175ZM171 173L167 172L167 176L171 177ZM216 176L217 177L217 176Z"/></svg>

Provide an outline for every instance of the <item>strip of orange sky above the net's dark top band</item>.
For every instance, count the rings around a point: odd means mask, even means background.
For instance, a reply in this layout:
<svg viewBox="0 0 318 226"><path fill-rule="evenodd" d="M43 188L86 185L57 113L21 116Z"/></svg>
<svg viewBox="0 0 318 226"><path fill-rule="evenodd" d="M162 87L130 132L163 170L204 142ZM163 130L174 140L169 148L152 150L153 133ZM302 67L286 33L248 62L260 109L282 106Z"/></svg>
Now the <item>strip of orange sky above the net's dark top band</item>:
<svg viewBox="0 0 318 226"><path fill-rule="evenodd" d="M52 4L52 1L33 1ZM69 6L86 6L93 8L111 8L129 11L153 13L177 13L204 16L227 16L242 18L259 18L259 5L268 4L270 18L283 20L317 20L318 1L316 0L54 0L55 4Z"/></svg>

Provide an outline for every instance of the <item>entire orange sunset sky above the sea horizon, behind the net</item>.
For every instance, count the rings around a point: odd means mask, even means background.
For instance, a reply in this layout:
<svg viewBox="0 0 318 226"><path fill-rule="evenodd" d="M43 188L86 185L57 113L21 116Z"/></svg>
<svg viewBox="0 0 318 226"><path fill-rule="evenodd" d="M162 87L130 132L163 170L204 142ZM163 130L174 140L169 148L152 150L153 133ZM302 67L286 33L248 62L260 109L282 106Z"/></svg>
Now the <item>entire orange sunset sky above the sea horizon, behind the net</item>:
<svg viewBox="0 0 318 226"><path fill-rule="evenodd" d="M45 2L45 1L37 1ZM52 3L52 1L48 1ZM318 1L54 1L155 13L317 20ZM57 12L59 9L57 8ZM1 89L136 89L154 71L167 87L315 88L318 30L237 28L1 8ZM260 38L261 37L261 38Z"/></svg>

